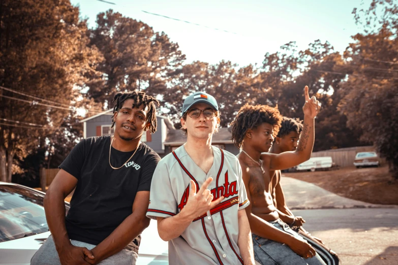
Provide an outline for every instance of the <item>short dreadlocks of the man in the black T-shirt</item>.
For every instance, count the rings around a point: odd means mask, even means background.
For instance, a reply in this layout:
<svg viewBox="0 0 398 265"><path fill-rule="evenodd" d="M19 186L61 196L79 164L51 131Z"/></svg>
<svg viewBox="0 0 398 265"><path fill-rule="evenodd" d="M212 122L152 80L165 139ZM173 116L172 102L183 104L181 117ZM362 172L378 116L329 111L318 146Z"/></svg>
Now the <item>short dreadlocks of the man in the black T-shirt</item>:
<svg viewBox="0 0 398 265"><path fill-rule="evenodd" d="M112 103L114 104L113 106L113 113L116 111L120 110L121 107L123 107L123 104L127 100L134 100L134 104L132 108L138 108L142 104L144 105L144 108L148 107L148 113L146 115L146 122L149 122L149 132L153 134L157 127L158 127L158 122L156 119L156 108L159 106L159 101L150 95L145 94L145 92L142 91L131 91L131 92L119 92L116 93L115 96L113 97ZM114 116L112 116L112 126L115 124L114 121Z"/></svg>

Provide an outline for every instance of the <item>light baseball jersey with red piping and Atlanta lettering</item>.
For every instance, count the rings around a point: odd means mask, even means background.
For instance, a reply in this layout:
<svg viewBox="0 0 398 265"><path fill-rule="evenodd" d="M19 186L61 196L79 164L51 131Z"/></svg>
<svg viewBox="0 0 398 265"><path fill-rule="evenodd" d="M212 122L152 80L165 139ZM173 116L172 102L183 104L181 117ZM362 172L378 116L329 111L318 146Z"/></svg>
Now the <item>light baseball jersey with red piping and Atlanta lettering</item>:
<svg viewBox="0 0 398 265"><path fill-rule="evenodd" d="M206 175L186 152L184 146L166 155L152 177L150 203L146 216L171 217L187 204L190 180L199 190L212 177L208 189L213 200L224 200L193 220L181 236L169 241L170 264L243 264L238 248L238 210L249 205L238 159L212 147L214 160Z"/></svg>

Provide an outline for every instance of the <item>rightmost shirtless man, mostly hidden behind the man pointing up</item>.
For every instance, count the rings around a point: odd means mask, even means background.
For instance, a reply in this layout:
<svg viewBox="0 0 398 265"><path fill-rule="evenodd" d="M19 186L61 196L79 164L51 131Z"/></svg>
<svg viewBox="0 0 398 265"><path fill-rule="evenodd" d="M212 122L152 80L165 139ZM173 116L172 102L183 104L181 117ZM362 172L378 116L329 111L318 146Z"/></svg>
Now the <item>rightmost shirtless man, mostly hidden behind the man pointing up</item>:
<svg viewBox="0 0 398 265"><path fill-rule="evenodd" d="M278 135L275 137L269 152L272 154L280 154L288 151L296 151L301 131L302 122L299 119L283 117L281 128L279 129ZM273 205L278 211L279 218L289 224L294 231L307 240L328 265L338 265L340 263L340 259L337 254L325 246L319 238L311 236L311 234L302 227L305 223L304 219L301 216L294 216L286 205L285 194L281 186L281 171L270 171L269 176L271 177L272 182L271 195Z"/></svg>

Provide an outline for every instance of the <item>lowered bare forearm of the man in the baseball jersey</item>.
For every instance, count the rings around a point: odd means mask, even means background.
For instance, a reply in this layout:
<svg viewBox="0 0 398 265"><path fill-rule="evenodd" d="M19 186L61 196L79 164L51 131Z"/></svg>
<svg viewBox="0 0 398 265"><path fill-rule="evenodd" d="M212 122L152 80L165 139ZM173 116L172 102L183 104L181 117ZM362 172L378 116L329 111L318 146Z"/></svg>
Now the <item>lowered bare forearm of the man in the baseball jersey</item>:
<svg viewBox="0 0 398 265"><path fill-rule="evenodd" d="M244 210L240 210L244 211ZM238 247L240 255L243 259L243 264L254 264L253 254L253 241L252 233L250 231L250 224L246 214L239 216L238 219L239 236L238 236Z"/></svg>

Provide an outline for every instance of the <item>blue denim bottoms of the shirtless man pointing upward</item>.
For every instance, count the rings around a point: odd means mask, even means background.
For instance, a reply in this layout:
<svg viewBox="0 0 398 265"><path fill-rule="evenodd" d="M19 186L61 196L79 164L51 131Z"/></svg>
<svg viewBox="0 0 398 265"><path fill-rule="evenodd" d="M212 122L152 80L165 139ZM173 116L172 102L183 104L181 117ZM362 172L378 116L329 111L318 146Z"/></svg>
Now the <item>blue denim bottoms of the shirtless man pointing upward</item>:
<svg viewBox="0 0 398 265"><path fill-rule="evenodd" d="M269 223L274 227L291 234L298 240L307 242L281 219L271 221ZM262 265L326 265L318 253L312 258L304 259L296 254L286 244L265 239L255 234L252 234L252 238L254 258Z"/></svg>

